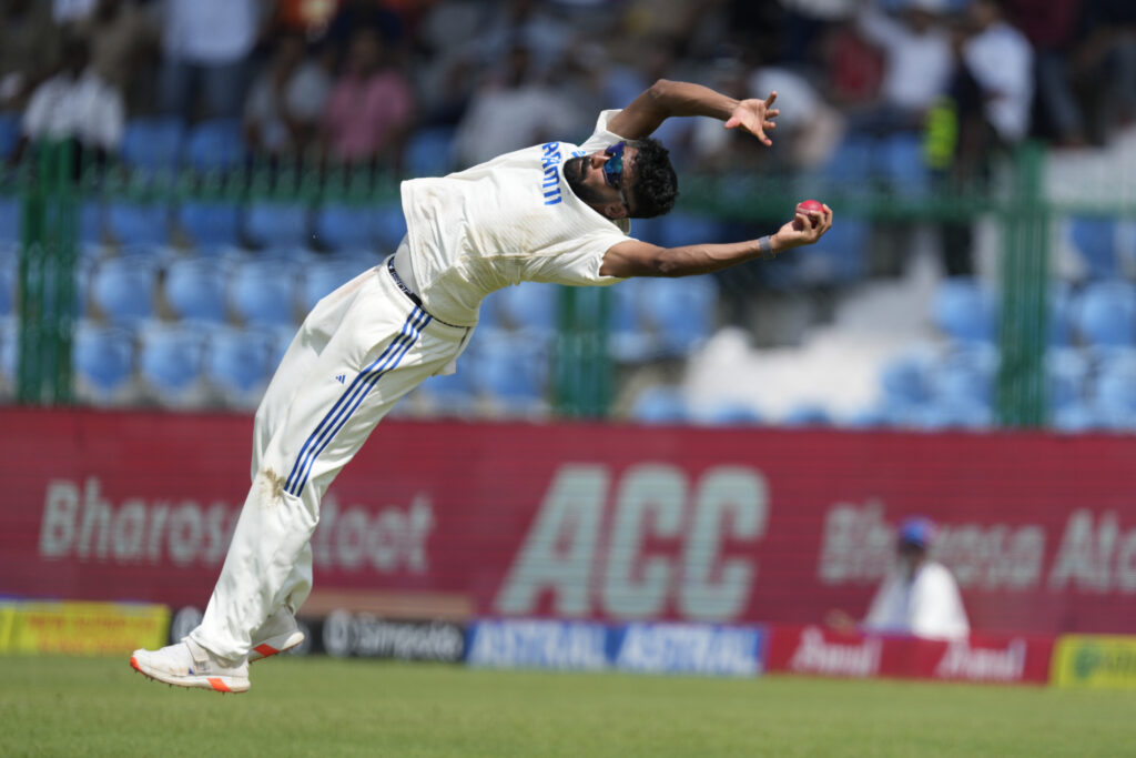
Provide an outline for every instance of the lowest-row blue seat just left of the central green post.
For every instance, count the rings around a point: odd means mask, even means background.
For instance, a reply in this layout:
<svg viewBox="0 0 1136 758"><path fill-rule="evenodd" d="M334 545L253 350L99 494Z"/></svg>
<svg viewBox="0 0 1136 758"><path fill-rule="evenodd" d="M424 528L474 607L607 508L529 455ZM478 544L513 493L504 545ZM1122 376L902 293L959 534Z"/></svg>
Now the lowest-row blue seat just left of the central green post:
<svg viewBox="0 0 1136 758"><path fill-rule="evenodd" d="M493 332L484 334L476 348L466 360L478 392L518 409L544 400L549 358L542 345L525 336Z"/></svg>

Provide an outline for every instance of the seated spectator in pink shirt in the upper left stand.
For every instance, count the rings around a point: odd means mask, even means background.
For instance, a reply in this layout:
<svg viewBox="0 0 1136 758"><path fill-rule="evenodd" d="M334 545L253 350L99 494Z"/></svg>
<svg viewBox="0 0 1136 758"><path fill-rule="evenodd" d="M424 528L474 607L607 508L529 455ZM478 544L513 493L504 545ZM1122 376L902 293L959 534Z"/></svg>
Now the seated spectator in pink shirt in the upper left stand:
<svg viewBox="0 0 1136 758"><path fill-rule="evenodd" d="M412 119L407 77L390 64L378 32L358 30L324 113L325 155L335 161L369 163L399 172Z"/></svg>

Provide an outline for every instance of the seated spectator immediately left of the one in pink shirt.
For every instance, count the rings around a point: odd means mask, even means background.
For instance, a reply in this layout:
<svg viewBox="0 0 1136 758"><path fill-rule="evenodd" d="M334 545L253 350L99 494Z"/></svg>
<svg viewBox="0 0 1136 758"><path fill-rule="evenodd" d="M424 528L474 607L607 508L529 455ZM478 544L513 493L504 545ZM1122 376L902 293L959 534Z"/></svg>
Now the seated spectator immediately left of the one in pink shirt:
<svg viewBox="0 0 1136 758"><path fill-rule="evenodd" d="M299 32L283 32L274 44L272 61L244 106L245 139L256 152L302 158L318 135L331 78L307 58Z"/></svg>

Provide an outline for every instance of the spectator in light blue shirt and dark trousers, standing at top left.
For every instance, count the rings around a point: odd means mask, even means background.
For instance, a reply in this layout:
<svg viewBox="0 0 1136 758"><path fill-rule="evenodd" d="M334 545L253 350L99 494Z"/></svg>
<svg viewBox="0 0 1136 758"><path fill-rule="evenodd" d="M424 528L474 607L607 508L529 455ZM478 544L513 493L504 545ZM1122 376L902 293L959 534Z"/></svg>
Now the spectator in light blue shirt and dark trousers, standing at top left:
<svg viewBox="0 0 1136 758"><path fill-rule="evenodd" d="M161 111L185 120L240 118L266 10L262 0L164 0Z"/></svg>

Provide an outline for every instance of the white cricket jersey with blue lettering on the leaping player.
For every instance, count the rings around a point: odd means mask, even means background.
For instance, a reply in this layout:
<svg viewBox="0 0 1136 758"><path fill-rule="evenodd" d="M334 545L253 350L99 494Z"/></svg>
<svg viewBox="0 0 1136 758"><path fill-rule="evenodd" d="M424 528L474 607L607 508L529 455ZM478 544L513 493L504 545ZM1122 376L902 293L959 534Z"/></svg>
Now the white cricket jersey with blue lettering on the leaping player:
<svg viewBox="0 0 1136 758"><path fill-rule="evenodd" d="M607 130L617 113L600 114L579 147L548 142L449 176L402 183L414 280L431 315L471 326L482 299L509 284L621 281L601 276L600 265L628 239L630 223L588 207L561 170L567 159L624 139Z"/></svg>

